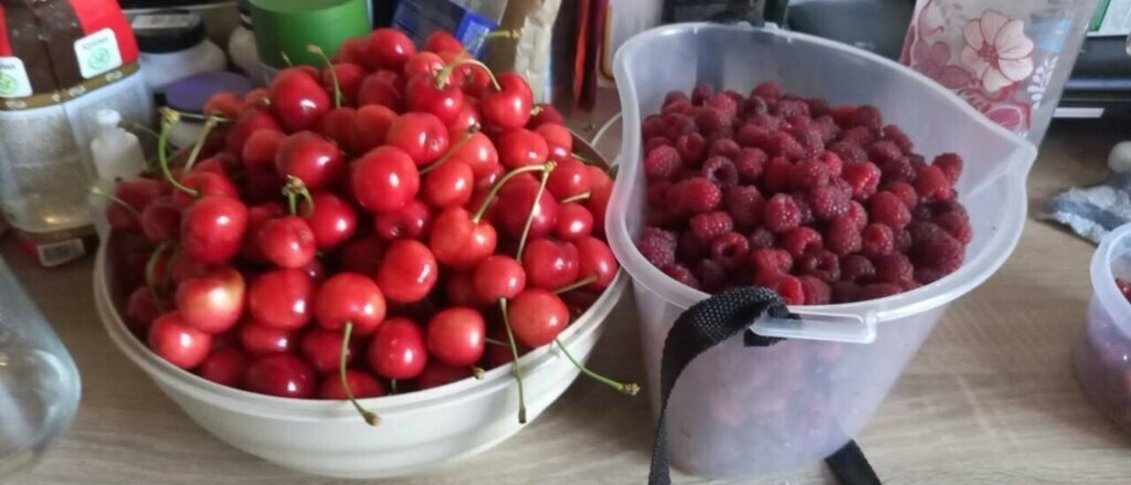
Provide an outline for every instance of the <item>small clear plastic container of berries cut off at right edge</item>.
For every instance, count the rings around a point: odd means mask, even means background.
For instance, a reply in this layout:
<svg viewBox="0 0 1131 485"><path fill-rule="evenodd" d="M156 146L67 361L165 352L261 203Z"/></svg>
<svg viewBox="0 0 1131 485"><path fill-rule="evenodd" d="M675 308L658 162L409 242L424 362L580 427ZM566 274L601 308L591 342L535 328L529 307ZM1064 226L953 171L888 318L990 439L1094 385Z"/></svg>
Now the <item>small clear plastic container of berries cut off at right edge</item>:
<svg viewBox="0 0 1131 485"><path fill-rule="evenodd" d="M1091 303L1083 336L1072 348L1083 392L1131 431L1131 303L1115 286L1131 280L1131 224L1113 231L1091 257Z"/></svg>

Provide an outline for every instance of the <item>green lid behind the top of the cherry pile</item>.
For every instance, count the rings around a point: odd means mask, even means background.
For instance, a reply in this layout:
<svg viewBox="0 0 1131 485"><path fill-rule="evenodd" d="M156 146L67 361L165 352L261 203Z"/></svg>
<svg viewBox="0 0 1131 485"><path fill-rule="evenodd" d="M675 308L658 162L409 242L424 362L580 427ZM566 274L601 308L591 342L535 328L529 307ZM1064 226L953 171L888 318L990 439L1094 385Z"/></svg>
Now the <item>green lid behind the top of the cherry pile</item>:
<svg viewBox="0 0 1131 485"><path fill-rule="evenodd" d="M322 47L333 57L349 37L366 35L366 0L251 0L259 59L267 66L286 67L283 53L295 64L321 67L322 59L307 45Z"/></svg>

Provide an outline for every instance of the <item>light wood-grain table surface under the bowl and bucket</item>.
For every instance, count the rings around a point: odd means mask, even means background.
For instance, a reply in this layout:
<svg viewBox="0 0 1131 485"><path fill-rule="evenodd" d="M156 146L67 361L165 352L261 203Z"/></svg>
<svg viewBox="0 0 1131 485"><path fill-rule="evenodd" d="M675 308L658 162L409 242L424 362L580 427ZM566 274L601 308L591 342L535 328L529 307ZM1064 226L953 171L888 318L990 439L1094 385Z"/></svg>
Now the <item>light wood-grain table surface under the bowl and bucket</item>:
<svg viewBox="0 0 1131 485"><path fill-rule="evenodd" d="M589 127L592 130L592 127ZM1057 191L1106 176L1122 136L1059 124L1029 180L1030 213ZM602 144L615 153L616 129ZM890 484L1115 484L1131 480L1131 440L1087 401L1069 348L1090 295L1094 246L1028 222L990 282L951 306L860 436ZM83 374L83 401L58 448L29 474L41 484L323 484L211 438L111 345L94 313L92 261L32 267L12 237L0 253L43 308ZM644 380L631 296L607 323L593 365ZM646 399L580 379L541 418L455 468L390 484L624 484L647 476ZM703 480L676 473L677 483ZM745 483L832 483L820 465Z"/></svg>

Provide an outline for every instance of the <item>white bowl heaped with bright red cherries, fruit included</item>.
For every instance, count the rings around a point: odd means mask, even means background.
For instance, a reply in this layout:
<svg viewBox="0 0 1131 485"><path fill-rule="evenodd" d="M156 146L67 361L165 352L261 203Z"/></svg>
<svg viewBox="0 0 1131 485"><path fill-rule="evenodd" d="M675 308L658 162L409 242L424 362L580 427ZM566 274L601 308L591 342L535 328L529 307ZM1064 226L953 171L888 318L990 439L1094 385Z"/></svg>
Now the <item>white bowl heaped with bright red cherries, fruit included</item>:
<svg viewBox="0 0 1131 485"><path fill-rule="evenodd" d="M321 53L317 47L311 52ZM302 471L382 477L481 452L585 367L625 282L608 166L450 35L344 43L321 69L165 111L96 263L114 344L192 419Z"/></svg>

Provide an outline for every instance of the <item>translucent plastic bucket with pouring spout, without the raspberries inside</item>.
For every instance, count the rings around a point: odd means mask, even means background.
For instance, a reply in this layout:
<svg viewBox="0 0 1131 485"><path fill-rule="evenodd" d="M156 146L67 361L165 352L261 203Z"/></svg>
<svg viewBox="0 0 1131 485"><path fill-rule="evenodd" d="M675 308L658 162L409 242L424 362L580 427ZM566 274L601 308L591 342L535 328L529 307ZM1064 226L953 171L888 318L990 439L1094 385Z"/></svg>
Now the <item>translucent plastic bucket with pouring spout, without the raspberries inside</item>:
<svg viewBox="0 0 1131 485"><path fill-rule="evenodd" d="M654 412L668 329L708 296L668 278L633 244L646 207L640 120L661 110L667 92L706 81L745 93L778 80L789 92L834 104L877 105L921 153L966 158L958 189L974 241L961 269L883 300L791 309L803 317L800 323L752 322L761 335L791 340L753 349L732 339L694 361L675 384L667 428L671 458L681 469L743 477L823 459L864 426L947 305L1009 257L1026 218L1025 179L1036 149L905 67L795 33L673 25L627 42L614 68L624 145L606 224L612 249L633 279Z"/></svg>

